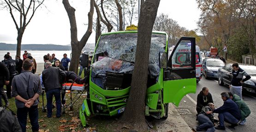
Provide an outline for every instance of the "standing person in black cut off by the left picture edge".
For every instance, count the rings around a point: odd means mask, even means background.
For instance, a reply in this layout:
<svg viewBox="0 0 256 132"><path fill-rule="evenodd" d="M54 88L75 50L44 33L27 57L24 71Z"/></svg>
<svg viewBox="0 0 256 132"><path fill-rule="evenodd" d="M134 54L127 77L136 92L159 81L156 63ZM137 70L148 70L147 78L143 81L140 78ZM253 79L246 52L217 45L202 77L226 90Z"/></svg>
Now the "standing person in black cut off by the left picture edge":
<svg viewBox="0 0 256 132"><path fill-rule="evenodd" d="M6 102L6 107L9 106L9 101L8 101L7 95L4 91L4 85L9 84L9 82L10 82L9 78L10 78L10 75L9 75L8 68L6 67L6 65L3 62L0 62L0 94ZM2 106L1 98L0 98L0 106Z"/></svg>

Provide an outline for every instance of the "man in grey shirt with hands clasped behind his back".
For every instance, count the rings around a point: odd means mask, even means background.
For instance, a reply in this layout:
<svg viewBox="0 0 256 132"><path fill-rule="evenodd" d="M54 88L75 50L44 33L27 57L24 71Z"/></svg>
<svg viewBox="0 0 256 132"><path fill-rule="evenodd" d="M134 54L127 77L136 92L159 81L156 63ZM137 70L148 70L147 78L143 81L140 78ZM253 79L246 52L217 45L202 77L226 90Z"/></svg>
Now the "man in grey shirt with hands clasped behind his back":
<svg viewBox="0 0 256 132"><path fill-rule="evenodd" d="M12 80L12 97L15 98L17 118L22 132L26 132L29 113L32 132L38 132L38 97L42 94L40 78L33 74L33 64L29 60L23 62L24 71Z"/></svg>

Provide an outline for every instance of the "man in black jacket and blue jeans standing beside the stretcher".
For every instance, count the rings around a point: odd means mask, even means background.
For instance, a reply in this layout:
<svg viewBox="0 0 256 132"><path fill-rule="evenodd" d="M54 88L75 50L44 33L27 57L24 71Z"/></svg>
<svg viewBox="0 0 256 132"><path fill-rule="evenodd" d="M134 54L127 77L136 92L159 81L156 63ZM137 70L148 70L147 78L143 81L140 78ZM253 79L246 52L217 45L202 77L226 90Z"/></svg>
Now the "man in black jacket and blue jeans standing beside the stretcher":
<svg viewBox="0 0 256 132"><path fill-rule="evenodd" d="M62 81L65 79L65 72L59 67L53 67L51 62L45 63L46 69L42 71L42 82L46 91L47 117L52 117L53 96L56 100L56 117L61 115L60 89Z"/></svg>

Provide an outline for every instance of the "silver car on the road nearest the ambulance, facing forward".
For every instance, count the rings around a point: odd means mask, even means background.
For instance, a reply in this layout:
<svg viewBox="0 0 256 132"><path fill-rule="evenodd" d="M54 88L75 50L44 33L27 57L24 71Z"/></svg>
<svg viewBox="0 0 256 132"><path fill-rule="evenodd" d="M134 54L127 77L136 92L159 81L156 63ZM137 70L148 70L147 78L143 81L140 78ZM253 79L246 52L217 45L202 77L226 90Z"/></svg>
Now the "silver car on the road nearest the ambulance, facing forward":
<svg viewBox="0 0 256 132"><path fill-rule="evenodd" d="M219 68L225 66L225 63L218 58L205 58L202 60L202 73L206 79L208 77L218 78Z"/></svg>

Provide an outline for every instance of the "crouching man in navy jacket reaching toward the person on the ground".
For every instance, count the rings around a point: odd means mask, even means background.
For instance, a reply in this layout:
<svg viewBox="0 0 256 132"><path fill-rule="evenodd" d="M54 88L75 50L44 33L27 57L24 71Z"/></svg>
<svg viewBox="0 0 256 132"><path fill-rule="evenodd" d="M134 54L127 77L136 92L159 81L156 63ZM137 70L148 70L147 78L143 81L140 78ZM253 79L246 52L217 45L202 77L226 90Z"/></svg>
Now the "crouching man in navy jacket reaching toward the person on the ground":
<svg viewBox="0 0 256 132"><path fill-rule="evenodd" d="M230 123L232 128L238 126L238 122L241 120L240 110L238 105L229 97L227 92L220 93L221 99L224 101L224 104L220 108L215 109L213 113L219 113L218 118L220 125L215 127L216 129L225 130L224 121ZM212 113L212 111L206 112L207 114Z"/></svg>

